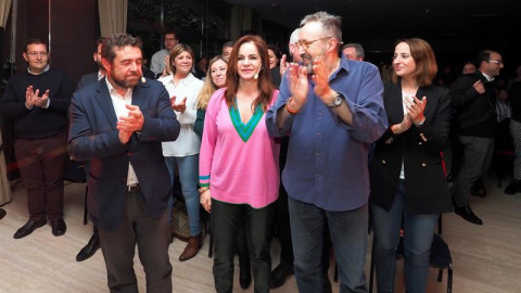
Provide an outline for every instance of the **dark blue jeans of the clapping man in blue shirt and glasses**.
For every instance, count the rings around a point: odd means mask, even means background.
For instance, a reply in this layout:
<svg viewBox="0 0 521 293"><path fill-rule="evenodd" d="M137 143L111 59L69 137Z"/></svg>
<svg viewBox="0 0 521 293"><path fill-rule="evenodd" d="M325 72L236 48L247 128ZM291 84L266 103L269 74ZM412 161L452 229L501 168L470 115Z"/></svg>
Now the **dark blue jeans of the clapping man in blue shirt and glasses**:
<svg viewBox="0 0 521 293"><path fill-rule="evenodd" d="M367 292L367 204L346 212L325 211L289 198L296 284L301 293L322 292L322 229L327 218L339 267L340 292Z"/></svg>

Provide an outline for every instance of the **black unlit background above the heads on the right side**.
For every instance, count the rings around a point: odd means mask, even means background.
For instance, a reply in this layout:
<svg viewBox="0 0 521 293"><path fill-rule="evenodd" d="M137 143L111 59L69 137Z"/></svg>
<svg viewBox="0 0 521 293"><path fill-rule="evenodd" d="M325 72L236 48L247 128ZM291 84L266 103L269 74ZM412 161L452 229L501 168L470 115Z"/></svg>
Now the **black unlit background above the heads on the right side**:
<svg viewBox="0 0 521 293"><path fill-rule="evenodd" d="M485 48L521 55L519 0L224 0L250 7L290 29L303 16L328 11L341 15L343 41L368 51L389 52L398 38L420 37L440 52L478 52ZM291 30L290 30L291 31Z"/></svg>

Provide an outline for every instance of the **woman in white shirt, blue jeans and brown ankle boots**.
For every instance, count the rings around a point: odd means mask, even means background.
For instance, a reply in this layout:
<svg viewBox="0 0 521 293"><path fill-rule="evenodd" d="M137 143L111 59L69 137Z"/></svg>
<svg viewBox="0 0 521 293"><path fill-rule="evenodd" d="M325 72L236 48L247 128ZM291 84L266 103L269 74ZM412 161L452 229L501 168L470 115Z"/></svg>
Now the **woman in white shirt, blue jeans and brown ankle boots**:
<svg viewBox="0 0 521 293"><path fill-rule="evenodd" d="M200 219L200 200L198 192L198 166L199 150L201 140L193 131L195 123L195 101L203 87L203 81L195 78L192 74L194 54L192 48L179 43L169 53L170 71L173 74L162 77L158 80L165 85L170 95L170 105L176 113L177 119L181 124L181 131L176 141L163 142L163 155L166 166L170 173L170 179L174 184L174 175L176 166L179 169L179 180L181 182L182 196L187 205L190 239L185 251L179 256L180 262L194 257L202 245L201 219ZM171 217L173 199L168 206Z"/></svg>

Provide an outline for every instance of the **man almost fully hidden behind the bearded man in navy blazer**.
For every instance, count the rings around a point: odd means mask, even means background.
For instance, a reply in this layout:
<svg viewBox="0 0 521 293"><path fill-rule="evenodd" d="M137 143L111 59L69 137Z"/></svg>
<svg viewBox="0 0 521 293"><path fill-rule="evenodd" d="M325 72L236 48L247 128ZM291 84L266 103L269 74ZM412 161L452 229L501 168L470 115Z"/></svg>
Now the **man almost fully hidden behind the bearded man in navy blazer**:
<svg viewBox="0 0 521 293"><path fill-rule="evenodd" d="M86 74L81 76L79 79L78 86L76 87L76 90L80 90L81 88L93 84L106 75L106 71L103 67L103 64L101 63L101 48L103 46L103 41L105 38L100 37L96 40L96 47L94 47L94 53L92 54L92 58L98 65L98 72L91 73L91 74ZM89 162L85 162L85 173L87 177L89 176ZM76 262L82 262L85 259L90 258L94 253L100 249L100 237L98 233L98 226L93 225L92 227L92 235L90 237L89 242L87 245L85 245L79 253L76 255Z"/></svg>

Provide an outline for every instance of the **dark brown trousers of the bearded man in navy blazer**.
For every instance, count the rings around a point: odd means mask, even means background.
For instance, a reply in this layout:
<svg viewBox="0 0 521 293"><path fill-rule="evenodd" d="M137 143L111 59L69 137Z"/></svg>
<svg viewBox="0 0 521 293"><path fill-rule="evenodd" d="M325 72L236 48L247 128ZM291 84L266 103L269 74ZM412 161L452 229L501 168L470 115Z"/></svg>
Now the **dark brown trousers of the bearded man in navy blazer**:
<svg viewBox="0 0 521 293"><path fill-rule="evenodd" d="M99 229L111 292L138 292L134 271L134 255L138 244L139 259L145 272L147 292L171 293L167 209L161 217L152 218L141 191L128 192L122 225L115 231Z"/></svg>

